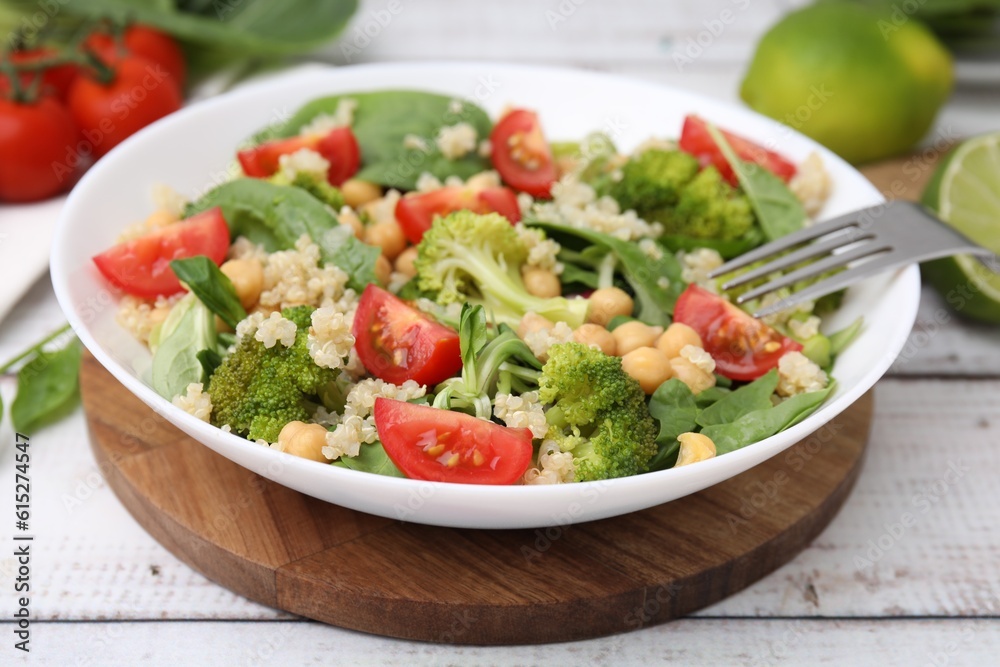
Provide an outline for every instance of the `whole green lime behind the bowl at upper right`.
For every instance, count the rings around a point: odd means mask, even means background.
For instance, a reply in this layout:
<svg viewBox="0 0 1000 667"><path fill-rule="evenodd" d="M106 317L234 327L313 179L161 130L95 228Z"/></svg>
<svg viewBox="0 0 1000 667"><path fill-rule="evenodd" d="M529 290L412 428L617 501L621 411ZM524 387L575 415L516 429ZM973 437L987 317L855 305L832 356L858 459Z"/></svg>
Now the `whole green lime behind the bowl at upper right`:
<svg viewBox="0 0 1000 667"><path fill-rule="evenodd" d="M950 54L912 17L820 3L788 14L764 35L740 96L861 163L918 142L953 82Z"/></svg>

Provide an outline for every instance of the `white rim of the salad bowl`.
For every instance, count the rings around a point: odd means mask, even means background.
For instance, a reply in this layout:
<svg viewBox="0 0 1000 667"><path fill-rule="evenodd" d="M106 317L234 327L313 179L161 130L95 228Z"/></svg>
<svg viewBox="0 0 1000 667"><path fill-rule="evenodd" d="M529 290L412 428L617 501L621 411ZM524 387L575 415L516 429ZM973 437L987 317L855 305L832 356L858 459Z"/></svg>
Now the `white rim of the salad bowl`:
<svg viewBox="0 0 1000 667"><path fill-rule="evenodd" d="M678 88L671 85L660 84L656 82L651 82L648 80L638 79L634 77L618 75L618 74L607 74L602 72L593 72L589 70L570 68L570 67L558 67L558 66L536 66L521 63L505 63L499 61L463 61L463 62L452 62L452 61L440 61L440 60L427 60L427 61L410 61L405 63L368 63L359 65L350 65L347 67L314 67L308 66L305 68L300 68L299 71L285 72L278 74L276 76L270 77L264 81L255 82L251 84L244 85L236 90L218 95L206 100L195 102L188 107L181 109L180 111L171 114L170 116L163 118L152 125L140 130L135 135L129 137L121 145L115 147L108 156L96 163L91 169L83 176L80 182L69 194L66 201L66 205L60 214L59 221L56 227L55 240L52 244L51 252L51 278L53 287L56 293L57 300L64 314L73 330L76 332L77 336L83 342L84 346L94 355L94 357L104 366L119 382L121 382L130 392L139 397L144 403L146 403L150 408L152 408L157 414L163 416L168 421L176 426L183 428L185 432L199 440L201 444L209 446L212 449L216 449L208 444L208 441L212 438L223 438L223 441L227 441L229 445L235 447L243 447L249 450L250 448L260 448L261 446L246 440L235 434L230 434L221 431L220 429L211 426L201 420L195 418L192 415L187 414L180 408L175 407L168 399L165 399L142 382L138 377L133 375L129 370L120 365L115 359L113 359L109 354L107 354L97 339L92 334L90 327L83 321L80 314L76 311L74 307L74 300L69 292L69 267L71 261L68 259L72 256L71 248L67 247L67 244L62 243L63 238L66 236L65 230L73 223L74 218L77 217L77 202L83 198L83 193L91 187L91 183L100 182L99 179L102 178L102 174L109 169L110 165L113 165L117 161L118 156L127 155L131 150L132 146L141 143L145 137L161 132L164 130L169 130L174 124L180 124L186 122L192 116L197 116L209 109L213 109L218 106L233 104L235 100L239 100L244 97L253 97L260 92L273 88L277 85L281 85L288 81L294 80L296 78L302 78L303 81L308 81L315 79L317 77L324 79L328 82L330 90L323 92L318 91L316 96L321 94L336 94L336 78L339 73L345 71L356 72L358 70L364 70L371 73L379 72L398 72L398 71L411 71L417 70L424 72L426 70L441 70L442 72L457 72L457 71L472 71L472 70L482 70L483 68L493 68L497 70L509 71L516 75L517 73L530 73L532 76L535 75L549 75L549 76L559 76L574 78L579 77L588 81L594 81L597 79L606 80L609 82L628 82L631 84L637 84L642 86L648 86L651 89L657 89L660 92L663 91L679 91L685 96L697 98L698 100L703 100L706 102L706 106L712 108L722 108L733 113L738 113L742 115L753 115L757 116L759 121L765 125L770 125L775 132L789 133L796 137L797 141L806 141L809 143L813 150L819 152L824 160L824 162L838 162L842 167L846 167L859 179L863 180L868 186L868 195L872 199L872 203L884 202L885 199L882 197L881 193L872 186L867 179L846 163L841 158L837 157L835 154L831 153L827 149L823 148L816 142L812 141L808 137L798 134L791 128L774 121L770 118L766 118L753 112L750 109L739 107L730 102L713 99L706 97L700 93L691 92ZM385 86L383 86L385 88ZM403 88L400 86L399 88ZM415 86L413 89L427 90L426 87ZM374 88L373 88L374 90ZM858 185L862 185L859 181ZM876 201L878 200L878 201ZM860 398L865 392L867 392L875 384L875 382L880 378L891 366L893 361L896 359L906 340L909 336L910 329L913 322L916 319L917 307L920 298L920 278L919 271L916 265L910 265L904 267L895 272L892 280L902 282L900 289L903 293L908 295L908 299L905 302L896 302L893 304L896 309L894 312L898 314L898 320L900 325L896 327L893 331L893 335L888 340L884 341L882 347L882 353L879 355L878 359L867 372L861 377L861 379L852 386L844 388L841 386L842 392L838 392L832 399L828 399L823 405L821 405L815 412L813 412L809 417L804 419L802 422L792 426L779 434L765 438L764 440L755 442L751 445L747 445L741 449L735 450L733 452L727 453L725 456L716 457L707 461L702 461L698 466L685 466L681 468L670 468L666 470L644 473L642 475L636 475L631 477L624 477L619 479L604 480L601 482L585 482L585 483L574 483L568 485L514 485L511 487L500 487L491 485L467 485L467 484L452 484L445 482L427 482L416 479L407 478L396 478L375 475L372 473L365 473L345 468L340 468L334 465L325 465L324 469L327 470L326 475L330 476L332 483L336 483L341 479L357 479L357 475L366 475L370 479L373 485L373 490L377 492L379 485L386 485L387 489L399 488L399 489L420 489L426 485L433 485L438 491L443 492L446 496L454 496L456 501L461 502L476 502L477 500L493 497L496 494L502 494L502 497L507 497L507 495L516 496L529 496L532 498L537 498L539 501L550 500L554 498L559 498L562 496L568 496L571 493L571 489L578 489L581 485L615 485L615 486L625 486L625 485L635 485L637 480L648 480L649 482L655 483L676 483L682 482L683 480L693 480L697 477L708 476L711 477L711 472L716 469L721 469L724 467L728 468L740 468L740 472L749 469L749 467L744 465L744 462L748 459L756 461L754 465L771 458L779 454L781 451L785 450L791 444L797 443L807 437L813 431L821 428L824 424L828 423L831 419L836 417L838 414L847 409L851 404L853 404L858 398ZM904 325L905 323L905 325ZM863 334L862 334L863 335ZM216 449L218 451L218 449ZM315 465L313 461L307 461L305 459L300 459L276 450L269 450L270 454L274 457L274 460L280 460L282 466L285 468L291 468L293 473L305 471L308 474L315 475L318 466ZM223 455L226 455L223 453ZM741 467L742 466L742 467ZM723 479L728 479L739 472L731 473L725 475ZM345 477L346 476L346 477ZM279 483L282 483L278 480ZM721 480L719 480L721 481ZM718 483L712 482L712 484ZM681 484L683 486L683 484ZM711 484L709 484L710 486ZM705 487L700 487L705 488ZM661 501L662 502L662 501ZM653 503L658 504L658 503ZM646 505L649 506L649 505ZM630 510L631 511L631 510ZM595 516L593 518L600 518ZM414 519L419 523L436 523L434 521L421 521L419 518ZM452 523L437 523L436 525L457 525ZM511 526L521 526L527 527L531 526L542 526L549 525L543 522L538 523L516 523L511 524Z"/></svg>

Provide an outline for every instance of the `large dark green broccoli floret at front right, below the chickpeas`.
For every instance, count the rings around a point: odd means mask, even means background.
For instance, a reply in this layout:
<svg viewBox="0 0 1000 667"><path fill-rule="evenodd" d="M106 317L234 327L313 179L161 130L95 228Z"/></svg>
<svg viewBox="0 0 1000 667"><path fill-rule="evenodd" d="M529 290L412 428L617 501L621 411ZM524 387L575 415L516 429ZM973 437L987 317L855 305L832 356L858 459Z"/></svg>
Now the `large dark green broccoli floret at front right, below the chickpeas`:
<svg viewBox="0 0 1000 667"><path fill-rule="evenodd" d="M539 399L548 406L547 437L572 452L576 481L648 470L657 427L621 359L580 343L553 345L538 385Z"/></svg>

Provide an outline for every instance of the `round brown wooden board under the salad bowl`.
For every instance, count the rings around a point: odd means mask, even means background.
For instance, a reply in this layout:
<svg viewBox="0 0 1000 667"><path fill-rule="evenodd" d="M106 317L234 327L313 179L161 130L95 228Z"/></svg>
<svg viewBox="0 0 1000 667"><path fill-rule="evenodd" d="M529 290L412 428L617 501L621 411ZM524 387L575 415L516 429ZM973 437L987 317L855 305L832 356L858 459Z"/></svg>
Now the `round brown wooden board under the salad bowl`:
<svg viewBox="0 0 1000 667"><path fill-rule="evenodd" d="M330 505L268 481L150 410L89 354L94 455L149 533L226 588L325 623L432 642L526 644L689 614L791 560L861 468L871 393L808 439L692 496L537 530L459 530Z"/></svg>

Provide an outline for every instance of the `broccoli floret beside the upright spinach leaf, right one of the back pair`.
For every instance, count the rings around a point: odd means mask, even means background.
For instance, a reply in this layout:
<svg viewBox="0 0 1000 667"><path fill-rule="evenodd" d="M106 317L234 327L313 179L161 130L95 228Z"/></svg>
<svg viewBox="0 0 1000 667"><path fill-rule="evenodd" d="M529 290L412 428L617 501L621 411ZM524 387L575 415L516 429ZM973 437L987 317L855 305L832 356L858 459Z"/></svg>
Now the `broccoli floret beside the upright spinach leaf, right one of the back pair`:
<svg viewBox="0 0 1000 667"><path fill-rule="evenodd" d="M750 201L722 180L715 167L702 169L681 191L677 206L653 216L667 234L701 239L738 239L753 227Z"/></svg>

